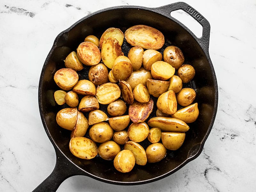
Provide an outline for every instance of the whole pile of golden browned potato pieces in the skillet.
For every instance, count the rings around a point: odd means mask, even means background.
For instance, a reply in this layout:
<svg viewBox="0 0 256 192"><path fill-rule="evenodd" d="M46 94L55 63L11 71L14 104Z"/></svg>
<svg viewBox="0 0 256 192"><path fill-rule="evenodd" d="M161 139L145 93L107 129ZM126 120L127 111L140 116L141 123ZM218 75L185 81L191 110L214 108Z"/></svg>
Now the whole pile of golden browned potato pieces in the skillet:
<svg viewBox="0 0 256 192"><path fill-rule="evenodd" d="M124 38L131 45L127 56L121 48ZM188 123L199 115L193 103L195 90L183 88L195 69L183 63L176 46L167 46L163 54L157 51L163 45L164 35L150 26L132 26L124 33L108 28L100 39L87 36L67 56L65 67L54 74L60 88L54 98L58 105L69 106L57 113L56 121L71 131L73 155L82 159L99 155L113 160L116 170L130 172L135 164L159 162L167 150L181 147ZM88 78L79 79L77 71L84 68L90 68ZM101 105L107 105L107 113ZM146 122L154 105L156 114ZM140 144L145 140L151 143L147 148Z"/></svg>

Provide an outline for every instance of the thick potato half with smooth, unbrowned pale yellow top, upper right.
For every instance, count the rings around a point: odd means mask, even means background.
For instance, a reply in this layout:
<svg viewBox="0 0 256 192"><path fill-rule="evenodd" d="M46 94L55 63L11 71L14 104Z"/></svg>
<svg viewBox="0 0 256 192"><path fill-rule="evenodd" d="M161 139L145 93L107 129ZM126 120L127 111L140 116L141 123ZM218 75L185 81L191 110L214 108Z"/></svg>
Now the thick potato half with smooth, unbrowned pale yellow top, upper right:
<svg viewBox="0 0 256 192"><path fill-rule="evenodd" d="M164 61L156 61L151 66L151 75L156 80L168 80L175 73L175 69Z"/></svg>

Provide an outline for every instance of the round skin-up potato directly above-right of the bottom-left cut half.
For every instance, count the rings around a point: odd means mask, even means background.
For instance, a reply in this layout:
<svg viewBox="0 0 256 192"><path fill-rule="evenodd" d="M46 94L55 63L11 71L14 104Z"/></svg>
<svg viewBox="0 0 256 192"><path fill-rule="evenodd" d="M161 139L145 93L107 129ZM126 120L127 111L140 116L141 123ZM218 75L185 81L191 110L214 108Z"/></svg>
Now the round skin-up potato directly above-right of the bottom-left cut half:
<svg viewBox="0 0 256 192"><path fill-rule="evenodd" d="M93 124L89 130L89 136L97 143L104 143L111 140L113 133L113 129L106 122Z"/></svg>

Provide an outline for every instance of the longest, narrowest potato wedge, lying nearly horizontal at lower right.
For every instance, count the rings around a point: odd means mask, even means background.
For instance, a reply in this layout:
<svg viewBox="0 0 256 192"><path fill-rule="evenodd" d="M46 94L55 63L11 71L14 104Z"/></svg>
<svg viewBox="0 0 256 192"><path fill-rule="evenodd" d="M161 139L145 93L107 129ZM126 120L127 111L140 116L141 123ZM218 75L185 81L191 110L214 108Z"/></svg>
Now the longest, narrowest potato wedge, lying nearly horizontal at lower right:
<svg viewBox="0 0 256 192"><path fill-rule="evenodd" d="M188 124L173 117L153 117L148 120L148 125L167 132L186 132L189 130Z"/></svg>

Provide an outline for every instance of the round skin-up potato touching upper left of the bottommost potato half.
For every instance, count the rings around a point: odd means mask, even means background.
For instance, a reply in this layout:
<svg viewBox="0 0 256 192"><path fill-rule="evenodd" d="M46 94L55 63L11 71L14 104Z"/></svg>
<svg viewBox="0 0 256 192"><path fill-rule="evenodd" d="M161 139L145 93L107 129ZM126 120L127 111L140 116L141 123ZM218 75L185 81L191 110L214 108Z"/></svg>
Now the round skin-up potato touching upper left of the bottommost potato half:
<svg viewBox="0 0 256 192"><path fill-rule="evenodd" d="M106 141L98 147L99 156L105 160L114 160L120 151L120 146L114 141Z"/></svg>

